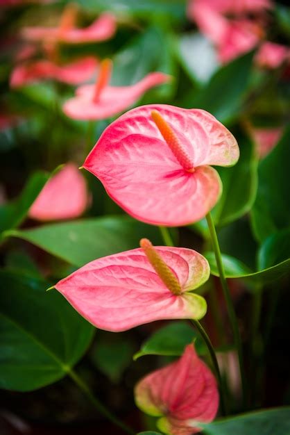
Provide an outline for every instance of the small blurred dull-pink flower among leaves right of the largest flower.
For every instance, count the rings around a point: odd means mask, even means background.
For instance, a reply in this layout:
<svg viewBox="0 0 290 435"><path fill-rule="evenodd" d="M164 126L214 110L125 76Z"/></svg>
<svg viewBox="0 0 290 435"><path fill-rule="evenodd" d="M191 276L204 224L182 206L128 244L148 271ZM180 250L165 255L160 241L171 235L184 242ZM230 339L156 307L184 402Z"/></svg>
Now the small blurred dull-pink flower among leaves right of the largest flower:
<svg viewBox="0 0 290 435"><path fill-rule="evenodd" d="M250 133L253 140L257 145L257 151L260 158L266 157L270 151L278 144L282 133L283 127L251 127Z"/></svg>

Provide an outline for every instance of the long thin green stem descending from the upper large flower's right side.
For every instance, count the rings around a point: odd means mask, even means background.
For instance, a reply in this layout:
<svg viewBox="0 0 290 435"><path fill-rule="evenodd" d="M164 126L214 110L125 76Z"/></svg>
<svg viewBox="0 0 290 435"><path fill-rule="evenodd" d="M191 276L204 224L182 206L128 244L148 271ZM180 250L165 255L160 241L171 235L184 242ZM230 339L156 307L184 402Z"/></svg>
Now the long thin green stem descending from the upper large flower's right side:
<svg viewBox="0 0 290 435"><path fill-rule="evenodd" d="M234 306L232 304L232 298L230 297L230 290L228 288L227 280L225 279L225 270L223 268L223 261L221 259L221 249L219 247L219 240L216 236L216 229L214 227L214 221L212 220L212 215L207 213L206 215L207 225L210 230L210 237L212 239L212 247L214 249L214 255L216 257L216 265L219 270L219 279L221 280L221 287L223 288L223 295L225 297L225 303L228 309L228 316L230 318L230 325L232 327L232 332L234 335L234 346L237 349L239 357L239 370L241 375L241 388L243 393L243 403L246 404L247 397L247 387L246 387L246 375L244 369L244 358L243 349L241 345L241 335L239 333L239 325L237 321L237 315L234 312Z"/></svg>

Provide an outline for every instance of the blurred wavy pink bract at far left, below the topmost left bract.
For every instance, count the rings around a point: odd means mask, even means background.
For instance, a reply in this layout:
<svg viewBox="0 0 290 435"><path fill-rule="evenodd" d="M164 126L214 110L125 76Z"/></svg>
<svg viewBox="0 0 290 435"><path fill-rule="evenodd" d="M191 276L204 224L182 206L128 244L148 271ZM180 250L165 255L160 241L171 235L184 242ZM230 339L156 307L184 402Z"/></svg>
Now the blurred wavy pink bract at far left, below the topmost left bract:
<svg viewBox="0 0 290 435"><path fill-rule="evenodd" d="M10 86L20 86L40 81L54 79L69 85L78 85L91 79L96 72L96 58L87 56L67 65L57 65L50 60L35 60L17 65L10 76Z"/></svg>

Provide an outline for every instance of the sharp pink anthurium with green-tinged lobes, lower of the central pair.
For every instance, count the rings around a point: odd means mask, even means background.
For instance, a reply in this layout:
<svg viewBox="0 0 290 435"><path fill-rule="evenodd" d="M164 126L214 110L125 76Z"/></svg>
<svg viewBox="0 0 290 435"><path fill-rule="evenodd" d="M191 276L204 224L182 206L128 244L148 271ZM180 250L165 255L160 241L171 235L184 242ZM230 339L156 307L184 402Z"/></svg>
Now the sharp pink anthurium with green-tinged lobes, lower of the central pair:
<svg viewBox="0 0 290 435"><path fill-rule="evenodd" d="M154 320L202 318L207 306L191 290L210 275L207 260L179 247L141 248L99 258L56 284L76 311L106 331Z"/></svg>

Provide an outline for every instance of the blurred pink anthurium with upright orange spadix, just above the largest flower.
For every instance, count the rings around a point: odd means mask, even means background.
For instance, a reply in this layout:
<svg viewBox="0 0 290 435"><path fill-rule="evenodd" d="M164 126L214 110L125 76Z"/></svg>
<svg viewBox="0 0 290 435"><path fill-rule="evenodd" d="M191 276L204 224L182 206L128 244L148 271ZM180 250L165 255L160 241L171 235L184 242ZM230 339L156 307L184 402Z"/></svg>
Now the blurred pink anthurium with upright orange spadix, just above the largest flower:
<svg viewBox="0 0 290 435"><path fill-rule="evenodd" d="M76 97L66 101L63 110L75 120L105 120L135 104L146 90L169 81L162 72L151 72L144 79L130 86L110 86L112 63L103 60L99 76L93 85L83 85L76 90Z"/></svg>

